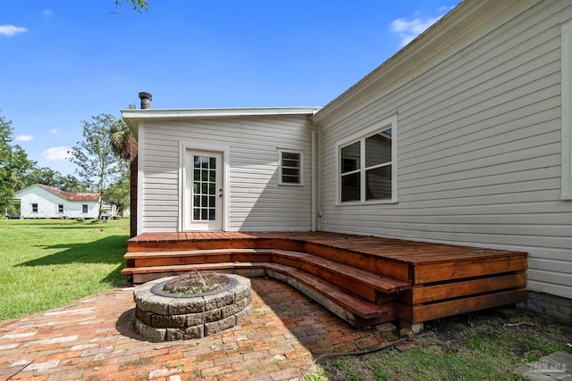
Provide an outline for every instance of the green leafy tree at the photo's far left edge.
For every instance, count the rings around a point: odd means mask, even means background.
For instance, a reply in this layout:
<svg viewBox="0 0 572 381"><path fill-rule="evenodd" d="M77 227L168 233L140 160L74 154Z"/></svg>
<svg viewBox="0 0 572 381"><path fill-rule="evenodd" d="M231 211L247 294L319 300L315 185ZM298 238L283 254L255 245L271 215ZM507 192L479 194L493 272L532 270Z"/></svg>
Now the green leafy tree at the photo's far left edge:
<svg viewBox="0 0 572 381"><path fill-rule="evenodd" d="M20 145L12 145L12 120L0 115L0 208L6 214L13 214L14 193L26 186L26 173L35 162Z"/></svg>

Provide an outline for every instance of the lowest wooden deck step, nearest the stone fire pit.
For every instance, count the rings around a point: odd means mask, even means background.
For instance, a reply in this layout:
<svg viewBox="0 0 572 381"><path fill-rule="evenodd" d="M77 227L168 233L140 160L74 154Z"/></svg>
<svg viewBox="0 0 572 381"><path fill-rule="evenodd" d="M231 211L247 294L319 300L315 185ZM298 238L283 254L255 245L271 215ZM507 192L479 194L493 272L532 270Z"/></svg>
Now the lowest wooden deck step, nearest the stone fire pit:
<svg viewBox="0 0 572 381"><path fill-rule="evenodd" d="M221 270L237 271L264 269L265 275L282 280L290 286L307 294L315 302L332 311L341 319L355 327L366 327L396 319L397 306L395 302L376 304L367 301L356 294L350 294L332 283L316 277L303 269L273 262L221 262L192 265L151 266L134 269L123 269L123 274L150 275L153 278L167 277L192 270ZM151 277L146 277L149 280Z"/></svg>

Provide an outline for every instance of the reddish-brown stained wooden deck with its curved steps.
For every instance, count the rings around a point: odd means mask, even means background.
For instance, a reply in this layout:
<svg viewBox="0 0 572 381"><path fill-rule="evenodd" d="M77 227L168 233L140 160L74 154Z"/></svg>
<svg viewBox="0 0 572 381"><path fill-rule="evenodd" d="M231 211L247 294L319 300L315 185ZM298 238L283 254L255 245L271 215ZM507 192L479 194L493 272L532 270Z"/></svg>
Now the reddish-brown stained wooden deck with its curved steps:
<svg viewBox="0 0 572 381"><path fill-rule="evenodd" d="M145 233L134 283L193 269L276 277L355 326L411 324L526 300L526 253L327 232Z"/></svg>

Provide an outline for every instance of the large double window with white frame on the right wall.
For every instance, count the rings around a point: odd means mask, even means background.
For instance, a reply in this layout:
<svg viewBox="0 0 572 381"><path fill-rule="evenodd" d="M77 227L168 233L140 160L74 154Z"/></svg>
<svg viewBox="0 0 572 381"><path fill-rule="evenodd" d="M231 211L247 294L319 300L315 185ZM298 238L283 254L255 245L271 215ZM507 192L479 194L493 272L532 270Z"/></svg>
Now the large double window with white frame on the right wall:
<svg viewBox="0 0 572 381"><path fill-rule="evenodd" d="M339 203L396 202L397 117L338 143Z"/></svg>

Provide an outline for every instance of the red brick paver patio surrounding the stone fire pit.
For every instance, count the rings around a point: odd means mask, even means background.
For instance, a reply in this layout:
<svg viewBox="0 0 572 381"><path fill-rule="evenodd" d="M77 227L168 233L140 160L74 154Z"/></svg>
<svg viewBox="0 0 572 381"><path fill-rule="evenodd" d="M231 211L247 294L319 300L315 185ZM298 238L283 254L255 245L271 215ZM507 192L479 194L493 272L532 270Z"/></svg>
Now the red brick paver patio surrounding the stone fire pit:
<svg viewBox="0 0 572 381"><path fill-rule="evenodd" d="M0 380L288 380L324 352L381 344L290 286L253 278L253 314L203 339L149 343L133 329L132 288L0 323Z"/></svg>

